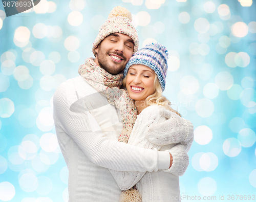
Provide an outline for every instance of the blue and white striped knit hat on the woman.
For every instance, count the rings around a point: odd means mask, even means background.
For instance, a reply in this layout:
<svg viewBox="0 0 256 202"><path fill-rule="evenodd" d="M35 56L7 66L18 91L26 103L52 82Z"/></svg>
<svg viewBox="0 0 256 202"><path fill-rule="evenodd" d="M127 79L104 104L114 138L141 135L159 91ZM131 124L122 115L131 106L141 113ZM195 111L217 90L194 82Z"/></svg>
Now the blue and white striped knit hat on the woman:
<svg viewBox="0 0 256 202"><path fill-rule="evenodd" d="M160 43L147 44L144 48L134 53L129 62L127 62L123 76L125 77L127 75L127 72L132 65L142 64L148 66L148 68L155 71L161 84L162 91L164 91L167 73L167 59L168 53L163 45Z"/></svg>

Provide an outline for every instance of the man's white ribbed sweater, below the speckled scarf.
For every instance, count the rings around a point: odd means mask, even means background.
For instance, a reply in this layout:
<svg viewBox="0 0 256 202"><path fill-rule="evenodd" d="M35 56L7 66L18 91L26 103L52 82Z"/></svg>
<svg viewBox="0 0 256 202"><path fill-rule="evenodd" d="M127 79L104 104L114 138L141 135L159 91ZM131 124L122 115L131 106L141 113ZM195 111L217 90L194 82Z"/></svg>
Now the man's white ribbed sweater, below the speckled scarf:
<svg viewBox="0 0 256 202"><path fill-rule="evenodd" d="M90 110L100 111L102 132ZM84 78L62 83L53 97L59 146L69 170L69 201L117 202L121 190L109 169L157 171L169 167L169 153L117 141L122 120L113 105ZM114 140L114 141L113 141Z"/></svg>

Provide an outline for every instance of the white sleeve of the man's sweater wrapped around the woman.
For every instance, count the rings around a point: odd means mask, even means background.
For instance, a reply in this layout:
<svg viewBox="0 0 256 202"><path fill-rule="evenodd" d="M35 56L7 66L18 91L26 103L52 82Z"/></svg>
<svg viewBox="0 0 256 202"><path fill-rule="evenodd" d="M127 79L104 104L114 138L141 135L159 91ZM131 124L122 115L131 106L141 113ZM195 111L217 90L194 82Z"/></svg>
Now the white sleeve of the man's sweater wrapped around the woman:
<svg viewBox="0 0 256 202"><path fill-rule="evenodd" d="M165 163L165 168L159 168L157 151L109 140L90 114L84 98L79 99L76 91L72 85L60 85L56 90L53 98L55 124L94 164L119 171L145 172L168 168L168 163Z"/></svg>

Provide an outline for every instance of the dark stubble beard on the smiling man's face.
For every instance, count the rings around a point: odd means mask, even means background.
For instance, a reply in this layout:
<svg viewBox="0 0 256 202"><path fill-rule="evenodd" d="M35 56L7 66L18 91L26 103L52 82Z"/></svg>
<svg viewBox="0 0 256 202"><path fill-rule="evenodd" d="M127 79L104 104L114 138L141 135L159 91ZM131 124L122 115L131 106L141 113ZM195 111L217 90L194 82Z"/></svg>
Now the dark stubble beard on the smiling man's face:
<svg viewBox="0 0 256 202"><path fill-rule="evenodd" d="M108 57L110 57L109 56L110 51L107 51L106 54L104 54L100 50L100 46L99 46L99 51L97 53L97 59L98 59L99 66L102 69L104 69L105 71L107 71L110 74L116 75L124 70L125 65L126 65L126 57L124 57L123 54L120 54L118 52L112 52L112 53L119 55L120 57L123 58L123 61L121 62L122 64L110 64L110 62L108 62L108 59L107 59ZM117 62L113 61L113 63L117 63Z"/></svg>

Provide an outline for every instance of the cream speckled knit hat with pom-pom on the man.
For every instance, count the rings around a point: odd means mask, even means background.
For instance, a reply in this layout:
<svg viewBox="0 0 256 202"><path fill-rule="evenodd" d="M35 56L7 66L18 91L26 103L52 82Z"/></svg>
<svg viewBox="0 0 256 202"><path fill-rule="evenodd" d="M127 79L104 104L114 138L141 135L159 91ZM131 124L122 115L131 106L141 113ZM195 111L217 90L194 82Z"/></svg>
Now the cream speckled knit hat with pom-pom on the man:
<svg viewBox="0 0 256 202"><path fill-rule="evenodd" d="M126 8L117 6L110 12L108 19L100 27L99 34L93 43L93 54L96 56L95 49L98 44L107 36L113 33L121 33L130 36L134 41L135 53L139 47L137 31L132 24L132 14Z"/></svg>

